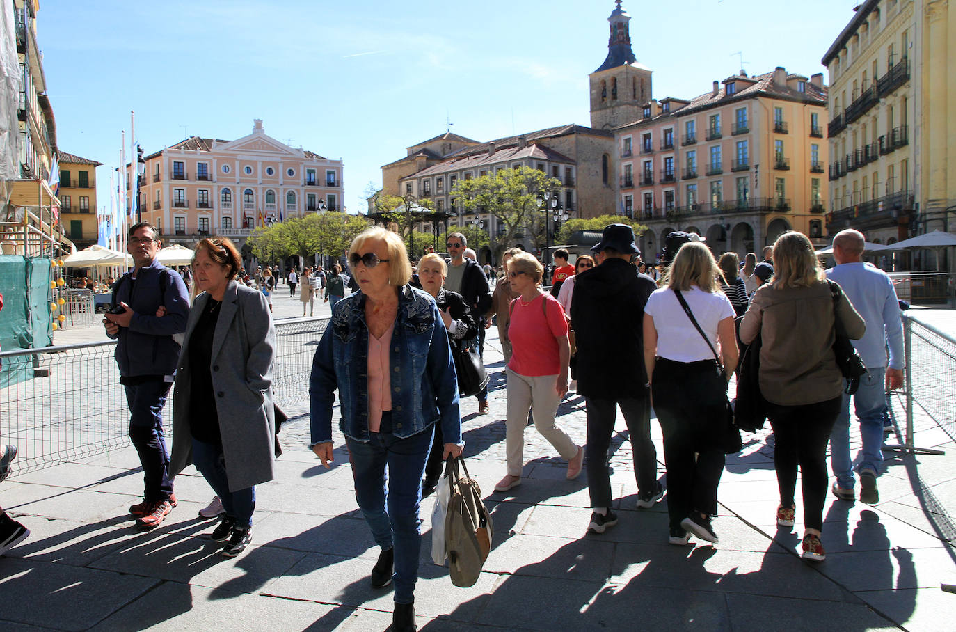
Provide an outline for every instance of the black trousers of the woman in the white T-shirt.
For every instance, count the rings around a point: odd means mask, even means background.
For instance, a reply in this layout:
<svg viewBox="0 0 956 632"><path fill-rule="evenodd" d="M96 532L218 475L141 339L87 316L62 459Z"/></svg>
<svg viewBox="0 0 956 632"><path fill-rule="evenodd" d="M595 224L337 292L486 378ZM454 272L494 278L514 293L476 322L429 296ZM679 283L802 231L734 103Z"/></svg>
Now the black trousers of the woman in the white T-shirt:
<svg viewBox="0 0 956 632"><path fill-rule="evenodd" d="M720 430L727 415L727 381L717 362L658 358L651 392L663 430L670 529L683 532L690 512L717 513L717 486L724 473Z"/></svg>

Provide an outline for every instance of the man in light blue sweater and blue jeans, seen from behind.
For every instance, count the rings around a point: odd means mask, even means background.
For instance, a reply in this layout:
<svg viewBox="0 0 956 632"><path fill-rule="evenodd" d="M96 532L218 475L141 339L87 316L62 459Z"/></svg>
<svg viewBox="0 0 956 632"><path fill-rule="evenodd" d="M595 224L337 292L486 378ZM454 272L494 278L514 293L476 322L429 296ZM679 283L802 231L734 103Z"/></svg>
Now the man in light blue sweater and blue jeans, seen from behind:
<svg viewBox="0 0 956 632"><path fill-rule="evenodd" d="M867 373L859 381L853 400L859 419L862 455L857 466L859 499L868 504L880 501L877 477L882 466L883 415L886 390L902 385L902 321L900 302L893 281L879 268L863 263L863 234L846 229L834 238L836 267L827 276L843 289L859 316L866 321L866 334L853 340ZM886 349L889 348L887 367ZM831 467L836 475L833 492L837 498L853 500L854 470L850 456L850 395L843 395L843 407L830 435Z"/></svg>

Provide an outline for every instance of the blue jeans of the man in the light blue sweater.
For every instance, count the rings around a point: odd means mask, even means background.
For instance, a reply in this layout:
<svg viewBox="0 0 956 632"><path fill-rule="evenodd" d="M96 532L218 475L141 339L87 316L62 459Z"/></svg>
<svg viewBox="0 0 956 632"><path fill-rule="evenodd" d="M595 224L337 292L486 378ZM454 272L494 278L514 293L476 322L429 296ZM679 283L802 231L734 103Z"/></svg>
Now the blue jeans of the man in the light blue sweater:
<svg viewBox="0 0 956 632"><path fill-rule="evenodd" d="M859 435L862 439L862 458L857 471L872 470L880 475L883 463L883 416L886 414L886 369L872 368L859 379L859 388L853 395L854 408L859 419ZM844 383L845 385L845 383ZM843 403L830 434L830 465L836 476L836 484L844 489L853 489L853 459L850 457L850 395L843 393Z"/></svg>

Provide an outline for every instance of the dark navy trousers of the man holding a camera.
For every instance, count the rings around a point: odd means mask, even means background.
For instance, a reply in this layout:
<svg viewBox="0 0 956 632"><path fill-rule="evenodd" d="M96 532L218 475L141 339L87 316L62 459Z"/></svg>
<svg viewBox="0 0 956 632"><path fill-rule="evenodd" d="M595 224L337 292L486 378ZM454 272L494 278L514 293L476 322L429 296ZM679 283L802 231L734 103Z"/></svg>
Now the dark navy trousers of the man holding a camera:
<svg viewBox="0 0 956 632"><path fill-rule="evenodd" d="M130 413L129 438L140 455L142 495L147 502L164 500L173 492L169 450L163 431L163 406L171 385L162 380L124 384Z"/></svg>

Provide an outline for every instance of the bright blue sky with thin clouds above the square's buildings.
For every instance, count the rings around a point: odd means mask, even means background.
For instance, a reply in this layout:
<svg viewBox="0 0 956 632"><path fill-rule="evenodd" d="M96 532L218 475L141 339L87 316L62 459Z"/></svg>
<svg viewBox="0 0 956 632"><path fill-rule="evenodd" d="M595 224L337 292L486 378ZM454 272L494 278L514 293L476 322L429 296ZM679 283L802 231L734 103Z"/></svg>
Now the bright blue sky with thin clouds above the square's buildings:
<svg viewBox="0 0 956 632"><path fill-rule="evenodd" d="M810 76L853 0L625 0L655 98L694 97L744 67ZM266 133L345 163L356 211L380 166L451 131L478 141L590 124L588 74L611 0L164 3L44 0L38 41L60 149L98 168L99 206L136 111L146 153L188 135ZM128 139L127 139L128 145Z"/></svg>

